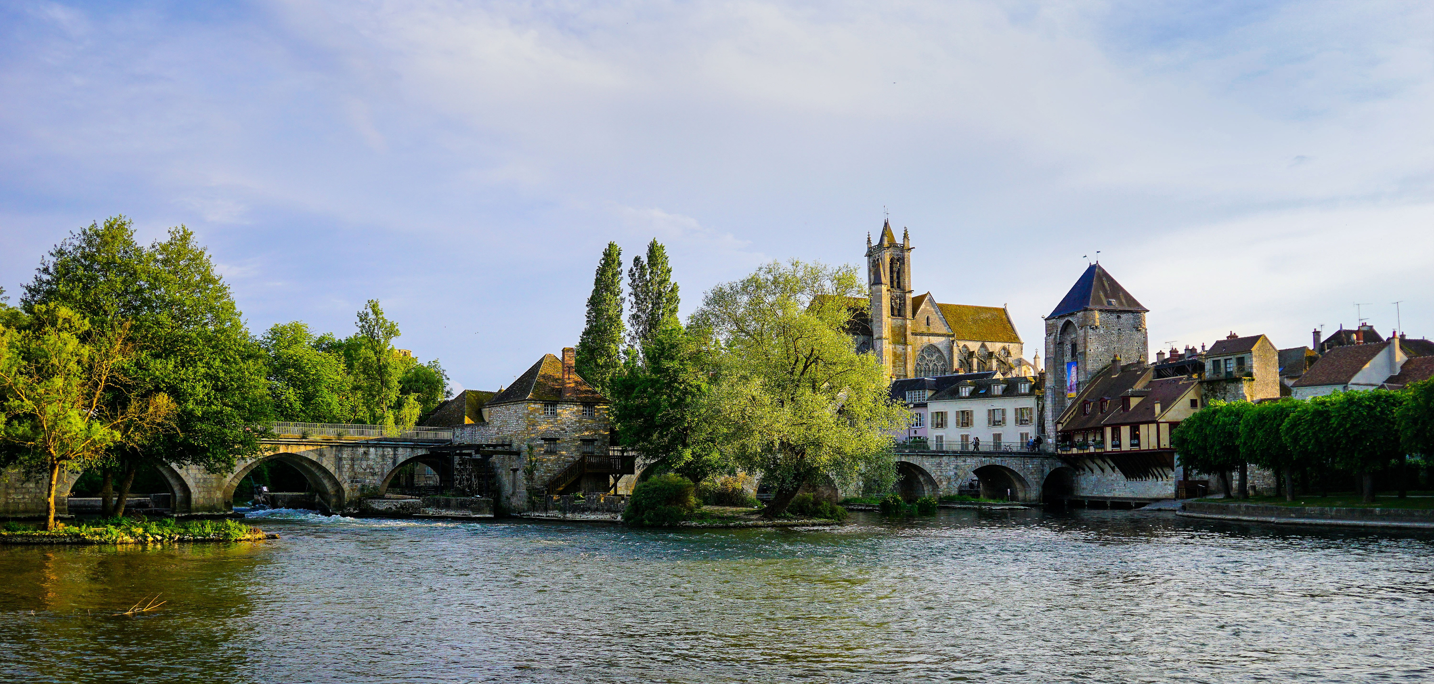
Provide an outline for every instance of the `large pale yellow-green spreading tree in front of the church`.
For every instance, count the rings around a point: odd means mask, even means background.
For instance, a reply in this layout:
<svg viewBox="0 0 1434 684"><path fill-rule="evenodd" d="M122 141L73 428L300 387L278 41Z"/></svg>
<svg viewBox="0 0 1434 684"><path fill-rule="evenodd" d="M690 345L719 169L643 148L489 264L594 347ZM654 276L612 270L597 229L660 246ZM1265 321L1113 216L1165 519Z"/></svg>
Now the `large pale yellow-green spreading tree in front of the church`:
<svg viewBox="0 0 1434 684"><path fill-rule="evenodd" d="M819 478L853 480L909 420L876 357L858 354L846 333L845 297L860 287L852 267L771 262L714 287L693 315L717 346L716 442L774 489L767 516Z"/></svg>

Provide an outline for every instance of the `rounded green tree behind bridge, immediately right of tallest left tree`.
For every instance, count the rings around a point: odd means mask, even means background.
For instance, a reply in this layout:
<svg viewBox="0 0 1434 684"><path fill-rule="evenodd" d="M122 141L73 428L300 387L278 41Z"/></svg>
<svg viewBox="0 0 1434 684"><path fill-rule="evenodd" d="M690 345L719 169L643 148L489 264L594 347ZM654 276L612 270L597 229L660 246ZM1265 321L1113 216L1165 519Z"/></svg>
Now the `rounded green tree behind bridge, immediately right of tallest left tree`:
<svg viewBox="0 0 1434 684"><path fill-rule="evenodd" d="M300 321L275 324L260 338L278 420L344 423L353 417L353 379L344 356L320 344Z"/></svg>

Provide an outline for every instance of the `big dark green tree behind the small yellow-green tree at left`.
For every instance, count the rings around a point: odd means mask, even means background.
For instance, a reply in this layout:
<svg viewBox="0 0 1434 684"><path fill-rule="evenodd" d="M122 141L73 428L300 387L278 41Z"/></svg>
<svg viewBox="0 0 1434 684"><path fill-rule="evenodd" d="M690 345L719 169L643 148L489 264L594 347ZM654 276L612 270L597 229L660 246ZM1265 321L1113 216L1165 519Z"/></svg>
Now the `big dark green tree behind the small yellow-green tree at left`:
<svg viewBox="0 0 1434 684"><path fill-rule="evenodd" d="M166 239L145 248L125 217L90 224L56 245L26 285L22 305L34 311L40 304L63 304L100 334L132 326L135 354L120 369L122 391L109 394L110 413L159 394L175 404L168 429L110 449L120 473L118 515L145 465L219 472L262 453L271 419L265 357L188 228L171 228Z"/></svg>

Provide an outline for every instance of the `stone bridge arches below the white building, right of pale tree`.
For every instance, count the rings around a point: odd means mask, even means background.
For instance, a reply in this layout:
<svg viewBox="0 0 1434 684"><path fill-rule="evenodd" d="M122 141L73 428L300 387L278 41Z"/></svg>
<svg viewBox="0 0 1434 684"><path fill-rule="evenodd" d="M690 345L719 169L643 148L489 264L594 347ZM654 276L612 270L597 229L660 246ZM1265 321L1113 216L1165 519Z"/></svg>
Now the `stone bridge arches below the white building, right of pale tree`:
<svg viewBox="0 0 1434 684"><path fill-rule="evenodd" d="M967 483L977 480L982 498L1035 503L1068 496L1076 479L1076 470L1055 456L1031 452L898 449L896 472L906 499L969 493Z"/></svg>

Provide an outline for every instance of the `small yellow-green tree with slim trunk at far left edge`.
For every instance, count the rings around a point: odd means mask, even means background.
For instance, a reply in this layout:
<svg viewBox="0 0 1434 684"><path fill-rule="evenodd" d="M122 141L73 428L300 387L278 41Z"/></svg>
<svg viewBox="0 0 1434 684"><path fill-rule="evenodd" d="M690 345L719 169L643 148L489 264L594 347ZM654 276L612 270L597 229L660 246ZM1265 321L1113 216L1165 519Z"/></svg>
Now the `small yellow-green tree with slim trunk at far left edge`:
<svg viewBox="0 0 1434 684"><path fill-rule="evenodd" d="M32 307L30 317L14 314L0 324L0 442L49 475L44 529L54 529L60 472L83 470L115 446L142 445L175 406L162 393L113 399L135 353L126 323L93 330L75 311L47 304Z"/></svg>

